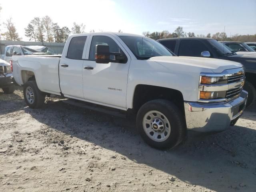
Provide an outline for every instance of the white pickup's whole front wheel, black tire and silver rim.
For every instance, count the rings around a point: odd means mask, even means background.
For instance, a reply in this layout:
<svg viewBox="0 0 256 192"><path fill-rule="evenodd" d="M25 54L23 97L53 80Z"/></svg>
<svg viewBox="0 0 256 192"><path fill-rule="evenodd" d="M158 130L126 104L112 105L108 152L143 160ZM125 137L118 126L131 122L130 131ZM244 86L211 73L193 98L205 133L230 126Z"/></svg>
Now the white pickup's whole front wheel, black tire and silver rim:
<svg viewBox="0 0 256 192"><path fill-rule="evenodd" d="M185 136L186 124L180 109L168 100L145 103L137 114L137 128L144 141L158 149L173 148Z"/></svg>

